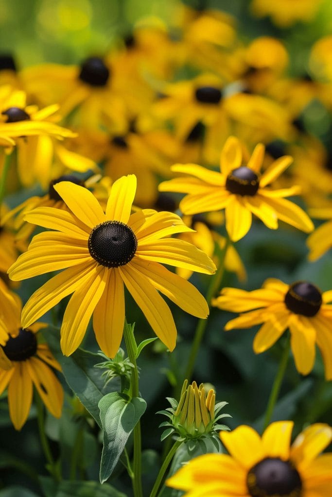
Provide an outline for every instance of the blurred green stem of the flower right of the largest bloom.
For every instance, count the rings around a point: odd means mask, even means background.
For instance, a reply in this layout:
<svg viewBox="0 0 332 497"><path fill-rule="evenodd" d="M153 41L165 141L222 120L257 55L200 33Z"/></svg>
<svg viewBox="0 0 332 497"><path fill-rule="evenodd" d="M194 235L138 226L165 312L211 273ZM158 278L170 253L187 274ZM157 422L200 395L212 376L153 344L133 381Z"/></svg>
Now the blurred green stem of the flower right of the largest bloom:
<svg viewBox="0 0 332 497"><path fill-rule="evenodd" d="M219 290L219 288L221 286L221 280L222 280L222 276L224 273L225 256L226 256L226 251L227 251L228 246L229 246L229 238L227 236L226 241L225 241L225 245L221 251L217 272L212 276L212 278L210 280L210 285L209 285L207 295L206 295L206 301L209 304L209 309L210 309L210 302L211 302L212 297L215 295L215 293ZM190 350L190 355L189 355L185 375L184 375L183 380L181 382L179 382L178 389L182 388L182 383L185 379L187 379L188 382L190 382L190 380L191 380L194 366L195 366L196 356L197 356L198 350L200 348L200 345L201 345L201 342L202 342L204 332L206 330L207 325L208 325L208 319L201 318L198 321L196 331L195 331L194 341L192 343L192 347Z"/></svg>

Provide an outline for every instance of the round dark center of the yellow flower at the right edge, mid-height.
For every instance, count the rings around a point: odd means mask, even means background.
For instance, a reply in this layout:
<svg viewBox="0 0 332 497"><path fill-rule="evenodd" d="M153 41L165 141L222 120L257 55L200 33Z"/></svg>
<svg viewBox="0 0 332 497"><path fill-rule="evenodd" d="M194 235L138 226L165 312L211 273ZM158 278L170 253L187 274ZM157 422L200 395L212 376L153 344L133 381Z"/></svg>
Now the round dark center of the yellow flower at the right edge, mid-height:
<svg viewBox="0 0 332 497"><path fill-rule="evenodd" d="M285 295L286 307L294 314L316 316L322 305L322 293L308 281L296 281Z"/></svg>

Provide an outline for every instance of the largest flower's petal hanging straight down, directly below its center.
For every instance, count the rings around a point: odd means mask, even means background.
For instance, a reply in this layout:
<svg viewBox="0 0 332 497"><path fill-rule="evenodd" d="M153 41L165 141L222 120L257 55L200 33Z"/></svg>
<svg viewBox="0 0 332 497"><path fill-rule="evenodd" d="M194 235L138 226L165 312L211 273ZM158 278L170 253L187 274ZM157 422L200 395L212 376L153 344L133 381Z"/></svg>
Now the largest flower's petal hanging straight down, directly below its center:
<svg viewBox="0 0 332 497"><path fill-rule="evenodd" d="M121 343L124 326L124 288L116 268L109 272L102 297L93 314L93 327L102 351L114 357Z"/></svg>

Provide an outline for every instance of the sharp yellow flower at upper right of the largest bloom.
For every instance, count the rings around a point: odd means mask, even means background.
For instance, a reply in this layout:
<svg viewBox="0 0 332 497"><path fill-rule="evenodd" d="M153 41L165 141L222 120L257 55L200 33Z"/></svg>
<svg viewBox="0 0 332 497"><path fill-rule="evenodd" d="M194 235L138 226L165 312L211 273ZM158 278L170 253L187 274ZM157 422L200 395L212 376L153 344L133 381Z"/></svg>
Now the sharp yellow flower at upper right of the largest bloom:
<svg viewBox="0 0 332 497"><path fill-rule="evenodd" d="M252 214L270 229L278 228L278 219L300 230L310 232L314 225L296 204L283 197L299 193L298 186L271 190L266 188L291 163L290 156L274 161L261 176L264 145L258 144L247 164L242 163L239 140L229 137L221 152L221 172L196 164L175 164L175 172L190 174L164 181L160 191L187 193L180 202L184 214L199 214L225 209L226 230L233 242L244 237L250 229Z"/></svg>

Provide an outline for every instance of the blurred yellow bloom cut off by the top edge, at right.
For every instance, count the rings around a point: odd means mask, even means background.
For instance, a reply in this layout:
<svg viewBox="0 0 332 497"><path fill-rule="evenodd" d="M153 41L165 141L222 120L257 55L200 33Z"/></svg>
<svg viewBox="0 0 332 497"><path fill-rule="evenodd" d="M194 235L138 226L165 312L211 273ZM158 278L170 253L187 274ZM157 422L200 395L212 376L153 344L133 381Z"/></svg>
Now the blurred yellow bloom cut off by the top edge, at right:
<svg viewBox="0 0 332 497"><path fill-rule="evenodd" d="M297 21L310 22L316 15L322 0L252 0L251 10L257 17L270 16L281 28Z"/></svg>

